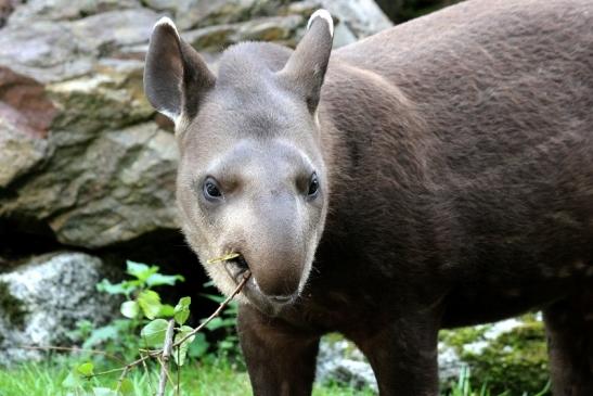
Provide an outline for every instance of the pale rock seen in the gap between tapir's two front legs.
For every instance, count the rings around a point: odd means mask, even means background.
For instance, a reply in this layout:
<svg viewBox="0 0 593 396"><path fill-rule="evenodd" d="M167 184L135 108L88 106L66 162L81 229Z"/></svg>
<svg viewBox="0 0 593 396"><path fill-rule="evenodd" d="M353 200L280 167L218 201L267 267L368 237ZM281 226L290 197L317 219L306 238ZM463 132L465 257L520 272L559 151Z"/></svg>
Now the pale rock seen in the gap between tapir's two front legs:
<svg viewBox="0 0 593 396"><path fill-rule="evenodd" d="M339 382L359 391L365 387L378 389L373 369L362 353L351 342L335 334L321 340L315 381Z"/></svg>

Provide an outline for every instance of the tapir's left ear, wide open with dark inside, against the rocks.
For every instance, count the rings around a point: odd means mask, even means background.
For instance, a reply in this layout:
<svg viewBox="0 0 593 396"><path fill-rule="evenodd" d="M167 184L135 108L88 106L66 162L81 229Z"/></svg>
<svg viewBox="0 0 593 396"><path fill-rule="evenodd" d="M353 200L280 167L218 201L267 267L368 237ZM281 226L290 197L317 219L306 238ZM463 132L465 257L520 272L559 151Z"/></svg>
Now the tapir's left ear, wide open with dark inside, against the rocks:
<svg viewBox="0 0 593 396"><path fill-rule="evenodd" d="M160 18L154 26L144 66L149 102L177 126L181 115L196 115L215 81L206 62L179 37L172 21Z"/></svg>

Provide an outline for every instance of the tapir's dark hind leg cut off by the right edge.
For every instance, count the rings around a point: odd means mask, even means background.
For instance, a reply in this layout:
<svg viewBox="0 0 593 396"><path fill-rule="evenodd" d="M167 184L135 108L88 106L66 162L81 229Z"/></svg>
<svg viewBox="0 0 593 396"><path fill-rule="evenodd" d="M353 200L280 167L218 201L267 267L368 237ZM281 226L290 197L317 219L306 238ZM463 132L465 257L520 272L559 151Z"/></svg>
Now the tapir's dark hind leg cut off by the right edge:
<svg viewBox="0 0 593 396"><path fill-rule="evenodd" d="M554 396L593 395L593 281L544 310Z"/></svg>

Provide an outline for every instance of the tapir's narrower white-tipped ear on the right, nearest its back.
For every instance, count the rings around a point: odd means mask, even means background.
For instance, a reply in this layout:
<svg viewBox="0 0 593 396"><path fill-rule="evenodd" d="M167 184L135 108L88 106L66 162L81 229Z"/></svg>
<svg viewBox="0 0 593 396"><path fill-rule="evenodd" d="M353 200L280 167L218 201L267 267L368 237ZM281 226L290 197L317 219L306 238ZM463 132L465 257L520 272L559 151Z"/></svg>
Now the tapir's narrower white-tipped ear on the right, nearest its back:
<svg viewBox="0 0 593 396"><path fill-rule="evenodd" d="M334 22L325 10L315 11L309 18L307 34L279 72L279 76L302 95L309 111L314 113L334 39Z"/></svg>

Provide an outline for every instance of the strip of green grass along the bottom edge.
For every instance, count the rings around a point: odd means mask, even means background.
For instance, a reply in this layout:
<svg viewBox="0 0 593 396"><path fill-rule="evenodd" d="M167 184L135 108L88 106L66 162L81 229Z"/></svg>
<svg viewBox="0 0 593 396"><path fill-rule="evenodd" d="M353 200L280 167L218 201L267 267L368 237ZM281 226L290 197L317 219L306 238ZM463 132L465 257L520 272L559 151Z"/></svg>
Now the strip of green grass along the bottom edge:
<svg viewBox="0 0 593 396"><path fill-rule="evenodd" d="M93 386L113 387L117 383L118 373L92 379L87 384L88 389L68 391L62 382L72 370L72 362L54 361L26 363L12 369L0 369L0 396L87 396L93 395ZM98 368L102 369L102 368ZM98 371L95 369L95 371ZM150 368L152 375L140 368L132 371L128 378L133 383L136 393L132 395L149 396L157 386L157 368ZM173 375L176 375L173 373ZM169 386L170 388L170 386ZM247 396L252 395L247 373L237 371L230 363L217 360L211 365L189 363L181 371L181 395L186 396ZM169 396L175 393L169 391ZM314 396L371 396L370 391L356 391L339 384L315 385Z"/></svg>

